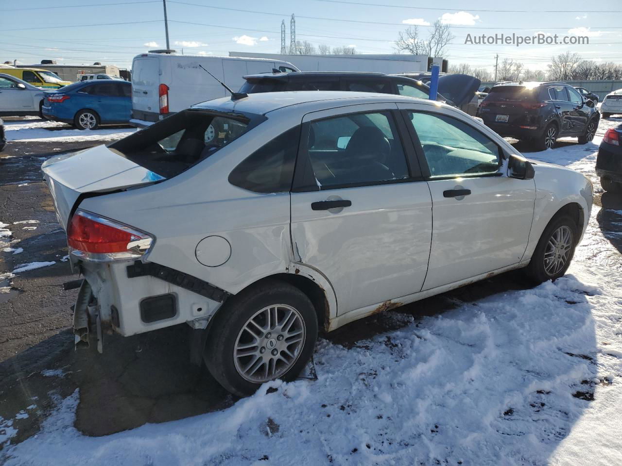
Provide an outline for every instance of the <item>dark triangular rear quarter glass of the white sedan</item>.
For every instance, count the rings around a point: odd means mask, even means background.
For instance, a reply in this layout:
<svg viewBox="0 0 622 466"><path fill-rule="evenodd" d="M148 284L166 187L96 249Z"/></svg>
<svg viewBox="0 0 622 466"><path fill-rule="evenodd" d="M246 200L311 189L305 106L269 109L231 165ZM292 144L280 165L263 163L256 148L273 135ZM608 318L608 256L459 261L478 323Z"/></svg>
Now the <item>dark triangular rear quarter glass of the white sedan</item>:
<svg viewBox="0 0 622 466"><path fill-rule="evenodd" d="M285 131L249 155L229 175L229 182L256 193L290 190L300 126Z"/></svg>

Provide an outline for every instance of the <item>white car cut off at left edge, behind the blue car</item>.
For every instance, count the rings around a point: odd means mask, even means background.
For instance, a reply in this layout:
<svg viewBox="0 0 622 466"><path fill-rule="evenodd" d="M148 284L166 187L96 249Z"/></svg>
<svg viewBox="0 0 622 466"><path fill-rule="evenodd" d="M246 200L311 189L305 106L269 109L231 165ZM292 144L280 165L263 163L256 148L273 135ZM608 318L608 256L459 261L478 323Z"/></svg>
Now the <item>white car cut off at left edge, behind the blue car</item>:
<svg viewBox="0 0 622 466"><path fill-rule="evenodd" d="M0 73L0 116L41 116L43 98L43 89Z"/></svg>

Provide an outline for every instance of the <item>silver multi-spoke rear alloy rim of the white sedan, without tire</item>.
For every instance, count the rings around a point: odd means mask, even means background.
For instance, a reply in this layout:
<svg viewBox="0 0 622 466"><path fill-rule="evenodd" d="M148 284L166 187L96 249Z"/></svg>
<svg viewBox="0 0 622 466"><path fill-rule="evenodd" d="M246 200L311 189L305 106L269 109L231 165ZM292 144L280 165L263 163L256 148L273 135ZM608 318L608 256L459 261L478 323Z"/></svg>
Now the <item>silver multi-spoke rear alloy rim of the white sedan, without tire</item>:
<svg viewBox="0 0 622 466"><path fill-rule="evenodd" d="M298 359L305 337L305 322L297 309L287 304L267 306L239 331L233 355L235 368L253 383L279 378Z"/></svg>

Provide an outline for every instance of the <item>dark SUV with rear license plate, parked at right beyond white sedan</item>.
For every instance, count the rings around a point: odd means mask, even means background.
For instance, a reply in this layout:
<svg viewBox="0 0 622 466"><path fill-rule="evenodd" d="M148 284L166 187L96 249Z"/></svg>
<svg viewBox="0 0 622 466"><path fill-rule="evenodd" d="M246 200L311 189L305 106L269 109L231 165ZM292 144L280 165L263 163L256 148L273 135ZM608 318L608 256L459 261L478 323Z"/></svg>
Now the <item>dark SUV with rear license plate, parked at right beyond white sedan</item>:
<svg viewBox="0 0 622 466"><path fill-rule="evenodd" d="M482 101L478 116L501 136L527 139L536 150L558 137L594 138L600 114L593 101L565 83L498 83Z"/></svg>

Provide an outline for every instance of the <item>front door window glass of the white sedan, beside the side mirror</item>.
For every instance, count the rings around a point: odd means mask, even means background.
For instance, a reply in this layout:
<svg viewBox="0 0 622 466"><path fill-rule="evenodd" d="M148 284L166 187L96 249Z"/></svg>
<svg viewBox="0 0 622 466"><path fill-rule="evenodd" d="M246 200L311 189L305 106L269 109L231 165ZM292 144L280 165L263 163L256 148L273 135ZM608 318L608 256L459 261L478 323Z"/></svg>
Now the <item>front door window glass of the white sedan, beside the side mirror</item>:
<svg viewBox="0 0 622 466"><path fill-rule="evenodd" d="M430 176L494 173L500 148L470 125L442 114L408 112L419 137Z"/></svg>

